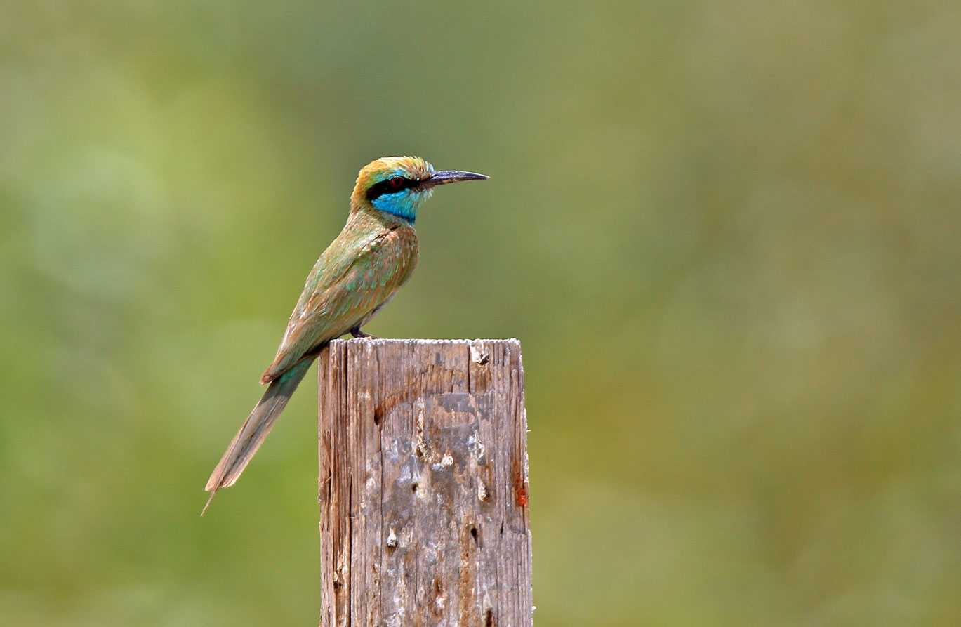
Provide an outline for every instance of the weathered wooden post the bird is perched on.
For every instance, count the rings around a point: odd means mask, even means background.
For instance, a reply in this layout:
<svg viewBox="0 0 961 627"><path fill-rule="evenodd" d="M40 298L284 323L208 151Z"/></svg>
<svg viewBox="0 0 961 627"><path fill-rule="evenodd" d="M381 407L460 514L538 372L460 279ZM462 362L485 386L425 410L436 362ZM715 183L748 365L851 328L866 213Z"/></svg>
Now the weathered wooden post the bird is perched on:
<svg viewBox="0 0 961 627"><path fill-rule="evenodd" d="M520 342L334 340L317 363L321 627L530 627Z"/></svg>

